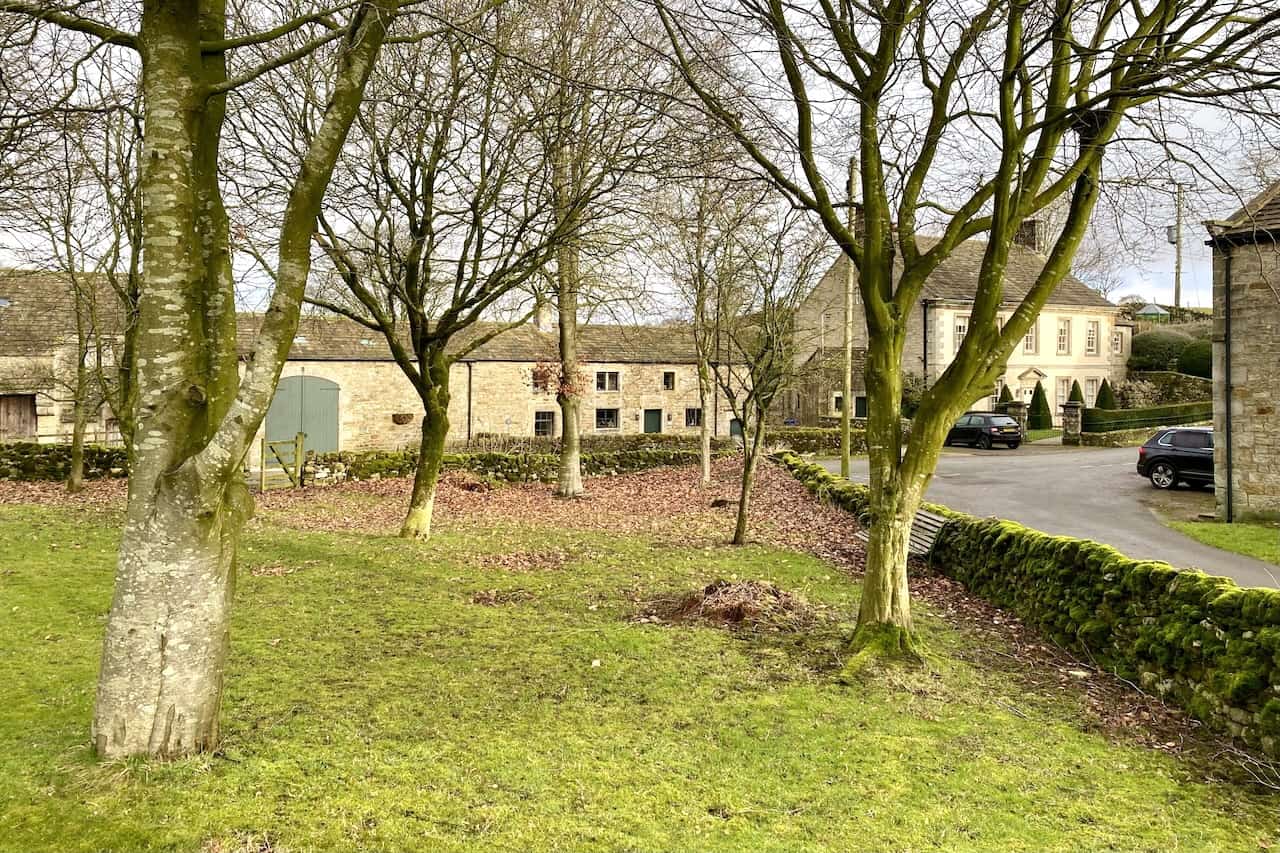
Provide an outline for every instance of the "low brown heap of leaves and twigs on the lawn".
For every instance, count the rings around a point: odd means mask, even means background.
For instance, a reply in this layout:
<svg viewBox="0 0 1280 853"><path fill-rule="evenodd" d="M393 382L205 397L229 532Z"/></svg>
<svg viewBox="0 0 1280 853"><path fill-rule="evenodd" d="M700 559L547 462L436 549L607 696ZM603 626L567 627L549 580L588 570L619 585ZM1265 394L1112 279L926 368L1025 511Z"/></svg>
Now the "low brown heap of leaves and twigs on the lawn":
<svg viewBox="0 0 1280 853"><path fill-rule="evenodd" d="M685 596L653 601L634 621L796 631L817 619L818 611L806 601L768 581L716 580Z"/></svg>

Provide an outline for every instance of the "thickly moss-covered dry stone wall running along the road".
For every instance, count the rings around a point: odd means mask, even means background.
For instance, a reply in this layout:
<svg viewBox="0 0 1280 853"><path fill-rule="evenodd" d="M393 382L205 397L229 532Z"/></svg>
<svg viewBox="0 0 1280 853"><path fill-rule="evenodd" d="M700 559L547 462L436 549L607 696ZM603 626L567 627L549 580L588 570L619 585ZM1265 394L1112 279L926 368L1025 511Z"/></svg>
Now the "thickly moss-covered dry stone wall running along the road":
<svg viewBox="0 0 1280 853"><path fill-rule="evenodd" d="M861 516L869 489L777 461L813 494ZM1132 560L1110 546L1012 521L947 516L934 569L1055 642L1280 757L1280 589Z"/></svg>

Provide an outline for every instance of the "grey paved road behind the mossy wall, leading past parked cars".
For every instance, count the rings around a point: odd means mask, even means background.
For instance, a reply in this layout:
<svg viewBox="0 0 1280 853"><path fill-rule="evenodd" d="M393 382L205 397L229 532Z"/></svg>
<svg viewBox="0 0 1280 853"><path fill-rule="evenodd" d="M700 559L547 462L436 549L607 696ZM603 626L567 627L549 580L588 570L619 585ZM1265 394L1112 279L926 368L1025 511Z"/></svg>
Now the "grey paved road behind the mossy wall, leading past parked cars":
<svg viewBox="0 0 1280 853"><path fill-rule="evenodd" d="M1134 473L1137 459L1138 451L1130 447L948 448L929 483L928 500L1046 533L1105 542L1138 560L1229 575L1245 587L1280 587L1280 566L1202 544L1161 524L1140 502L1151 484ZM840 460L822 464L840 471ZM851 479L867 482L865 459L854 460Z"/></svg>

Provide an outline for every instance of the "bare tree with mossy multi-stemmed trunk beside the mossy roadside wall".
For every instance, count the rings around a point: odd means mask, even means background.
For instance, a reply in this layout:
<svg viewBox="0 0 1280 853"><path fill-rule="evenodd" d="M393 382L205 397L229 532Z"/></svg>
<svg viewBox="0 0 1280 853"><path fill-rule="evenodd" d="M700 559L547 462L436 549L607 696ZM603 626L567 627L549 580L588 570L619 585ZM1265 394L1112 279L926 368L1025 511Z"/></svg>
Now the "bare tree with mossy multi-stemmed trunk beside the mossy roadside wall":
<svg viewBox="0 0 1280 853"><path fill-rule="evenodd" d="M872 530L854 646L910 654L908 534L942 439L989 394L1068 274L1108 146L1158 137L1162 111L1180 102L1271 90L1280 10L1270 0L655 4L666 50L707 114L819 216L858 269L869 333ZM728 78L708 79L707 44L737 46ZM717 96L726 86L740 95L732 106ZM1261 117L1267 105L1251 109ZM850 154L865 234L849 228L835 201ZM1059 200L1062 228L1001 325L1014 234ZM937 236L923 238L925 228ZM904 452L901 356L913 307L929 274L979 236L987 243L968 336L925 391Z"/></svg>

